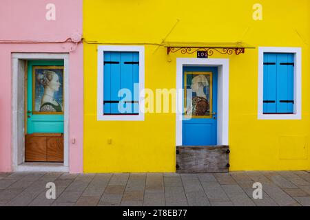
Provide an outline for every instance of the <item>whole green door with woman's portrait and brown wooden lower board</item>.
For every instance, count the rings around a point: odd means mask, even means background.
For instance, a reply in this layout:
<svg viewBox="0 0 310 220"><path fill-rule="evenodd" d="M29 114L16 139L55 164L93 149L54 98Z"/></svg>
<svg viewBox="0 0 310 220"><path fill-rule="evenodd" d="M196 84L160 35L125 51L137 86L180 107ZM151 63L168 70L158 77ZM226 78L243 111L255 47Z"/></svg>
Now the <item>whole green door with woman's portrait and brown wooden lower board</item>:
<svg viewBox="0 0 310 220"><path fill-rule="evenodd" d="M63 162L63 61L28 61L25 162Z"/></svg>

